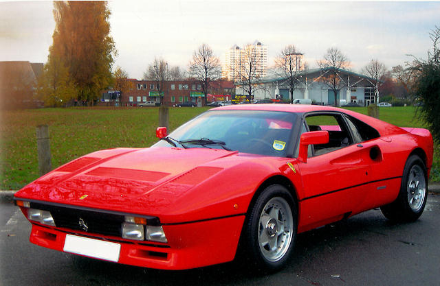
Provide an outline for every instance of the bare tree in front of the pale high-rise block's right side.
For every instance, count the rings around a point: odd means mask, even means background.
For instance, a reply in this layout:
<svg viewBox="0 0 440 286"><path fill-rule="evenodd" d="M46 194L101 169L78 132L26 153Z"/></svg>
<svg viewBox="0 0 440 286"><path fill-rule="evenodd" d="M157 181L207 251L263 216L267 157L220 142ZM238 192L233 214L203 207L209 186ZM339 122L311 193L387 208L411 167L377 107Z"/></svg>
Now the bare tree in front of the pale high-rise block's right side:
<svg viewBox="0 0 440 286"><path fill-rule="evenodd" d="M243 88L244 93L247 93L246 97L251 102L252 95L261 88L258 84L261 76L259 71L261 57L252 45L247 45L241 52L241 58L237 60L239 62L235 66L239 68L236 70L238 75L236 84Z"/></svg>

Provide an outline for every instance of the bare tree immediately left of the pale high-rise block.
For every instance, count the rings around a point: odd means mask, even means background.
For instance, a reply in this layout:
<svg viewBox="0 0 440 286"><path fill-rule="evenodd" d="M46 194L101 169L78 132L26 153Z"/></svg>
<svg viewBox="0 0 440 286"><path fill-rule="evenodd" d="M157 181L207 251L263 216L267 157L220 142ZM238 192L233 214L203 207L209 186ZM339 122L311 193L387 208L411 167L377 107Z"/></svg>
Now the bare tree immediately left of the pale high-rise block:
<svg viewBox="0 0 440 286"><path fill-rule="evenodd" d="M202 44L197 51L192 53L189 74L190 77L201 84L201 89L205 95L203 100L206 105L206 97L208 96L211 82L221 78L220 60L214 56L212 49L208 45Z"/></svg>

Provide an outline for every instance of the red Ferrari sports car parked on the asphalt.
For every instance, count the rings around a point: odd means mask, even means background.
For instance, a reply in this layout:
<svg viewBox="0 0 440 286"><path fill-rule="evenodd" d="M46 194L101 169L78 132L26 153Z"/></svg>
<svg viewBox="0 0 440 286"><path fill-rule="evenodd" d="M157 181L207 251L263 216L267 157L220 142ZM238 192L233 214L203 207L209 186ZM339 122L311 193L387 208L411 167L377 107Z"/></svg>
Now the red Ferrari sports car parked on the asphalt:
<svg viewBox="0 0 440 286"><path fill-rule="evenodd" d="M277 270L298 233L379 207L423 212L432 136L328 106L213 108L149 148L102 150L17 192L39 246L181 270Z"/></svg>

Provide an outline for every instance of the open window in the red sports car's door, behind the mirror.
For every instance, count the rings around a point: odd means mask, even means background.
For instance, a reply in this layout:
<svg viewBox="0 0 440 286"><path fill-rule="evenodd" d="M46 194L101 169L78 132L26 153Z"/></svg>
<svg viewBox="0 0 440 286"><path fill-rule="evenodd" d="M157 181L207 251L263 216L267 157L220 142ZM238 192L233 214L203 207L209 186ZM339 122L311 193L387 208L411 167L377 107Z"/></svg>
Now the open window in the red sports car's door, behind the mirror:
<svg viewBox="0 0 440 286"><path fill-rule="evenodd" d="M329 143L314 145L314 156L339 150L355 143L349 128L340 114L314 114L306 117L310 131L326 130L329 132Z"/></svg>

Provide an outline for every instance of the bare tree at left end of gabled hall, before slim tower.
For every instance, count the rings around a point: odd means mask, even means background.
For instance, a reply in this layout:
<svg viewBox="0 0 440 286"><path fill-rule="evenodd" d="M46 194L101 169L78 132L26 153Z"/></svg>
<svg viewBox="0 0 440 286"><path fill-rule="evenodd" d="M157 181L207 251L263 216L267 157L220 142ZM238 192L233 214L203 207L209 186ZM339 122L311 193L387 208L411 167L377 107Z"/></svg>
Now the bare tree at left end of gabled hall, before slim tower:
<svg viewBox="0 0 440 286"><path fill-rule="evenodd" d="M288 45L275 58L274 73L283 78L289 85L290 103L294 102L294 91L300 83L300 73L304 69L303 53L300 53L294 45Z"/></svg>

